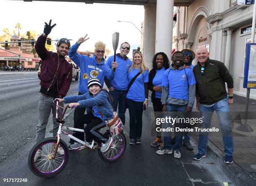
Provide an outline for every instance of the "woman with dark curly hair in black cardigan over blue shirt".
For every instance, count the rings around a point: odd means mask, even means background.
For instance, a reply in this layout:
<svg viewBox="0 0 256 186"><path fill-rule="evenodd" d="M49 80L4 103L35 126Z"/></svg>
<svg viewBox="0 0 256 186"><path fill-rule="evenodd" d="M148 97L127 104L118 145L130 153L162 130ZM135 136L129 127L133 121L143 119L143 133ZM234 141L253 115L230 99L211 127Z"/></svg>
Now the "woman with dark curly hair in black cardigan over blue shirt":
<svg viewBox="0 0 256 186"><path fill-rule="evenodd" d="M161 84L162 76L166 69L169 69L170 62L167 55L164 52L158 52L154 55L152 61L153 69L149 72L148 78L148 89L152 91L151 102L153 103L153 109L155 113L155 118L160 116L162 112L162 103L161 103ZM157 134L156 139L151 142L151 146L163 146L163 141L161 139L161 133Z"/></svg>

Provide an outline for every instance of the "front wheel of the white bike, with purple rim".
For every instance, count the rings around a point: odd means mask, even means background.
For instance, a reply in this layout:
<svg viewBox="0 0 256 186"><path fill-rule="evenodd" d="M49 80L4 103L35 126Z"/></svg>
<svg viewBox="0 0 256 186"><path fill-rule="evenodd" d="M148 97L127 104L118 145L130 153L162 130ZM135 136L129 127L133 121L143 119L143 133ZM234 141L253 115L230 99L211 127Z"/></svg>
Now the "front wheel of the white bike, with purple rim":
<svg viewBox="0 0 256 186"><path fill-rule="evenodd" d="M51 137L45 138L33 146L28 156L28 166L33 174L50 178L63 171L69 161L68 146L63 140L60 140L59 146L64 150L64 154L57 152L55 159L51 159L56 143L57 139ZM36 152L41 154L38 158L35 158Z"/></svg>

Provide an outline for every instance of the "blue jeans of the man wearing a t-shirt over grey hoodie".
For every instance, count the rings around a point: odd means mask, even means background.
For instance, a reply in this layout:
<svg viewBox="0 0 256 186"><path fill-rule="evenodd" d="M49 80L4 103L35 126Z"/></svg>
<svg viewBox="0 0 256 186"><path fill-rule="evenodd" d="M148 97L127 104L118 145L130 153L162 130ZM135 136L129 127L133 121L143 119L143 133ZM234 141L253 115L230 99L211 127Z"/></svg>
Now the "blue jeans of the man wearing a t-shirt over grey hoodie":
<svg viewBox="0 0 256 186"><path fill-rule="evenodd" d="M172 104L167 104L167 112L168 116L175 118L176 116L179 117L184 117L184 112L185 109L187 108L187 105L172 105ZM176 113L178 112L178 113ZM182 114L182 115L180 115ZM163 123L163 129L167 129L168 127L171 127L170 123ZM175 127L175 124L174 124ZM171 133L171 132L169 132ZM181 134L176 135L177 133L174 133L175 135L175 144L173 146L174 151L179 151L180 150L180 146L182 143L182 136ZM162 135L164 136L164 149L172 149L172 136L166 136L166 135Z"/></svg>

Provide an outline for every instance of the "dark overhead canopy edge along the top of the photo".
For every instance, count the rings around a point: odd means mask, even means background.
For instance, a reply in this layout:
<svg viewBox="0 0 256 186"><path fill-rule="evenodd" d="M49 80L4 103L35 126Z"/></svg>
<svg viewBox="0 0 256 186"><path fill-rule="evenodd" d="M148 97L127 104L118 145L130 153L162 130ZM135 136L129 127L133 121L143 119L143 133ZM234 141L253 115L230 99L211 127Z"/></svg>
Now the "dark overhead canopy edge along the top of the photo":
<svg viewBox="0 0 256 186"><path fill-rule="evenodd" d="M24 1L32 1L32 0L24 0ZM36 1L42 1L42 0L36 0ZM86 4L106 3L106 4L123 4L123 5L144 5L146 3L156 3L156 0L44 0L44 1L84 2ZM174 6L187 6L192 1L194 0L174 0Z"/></svg>

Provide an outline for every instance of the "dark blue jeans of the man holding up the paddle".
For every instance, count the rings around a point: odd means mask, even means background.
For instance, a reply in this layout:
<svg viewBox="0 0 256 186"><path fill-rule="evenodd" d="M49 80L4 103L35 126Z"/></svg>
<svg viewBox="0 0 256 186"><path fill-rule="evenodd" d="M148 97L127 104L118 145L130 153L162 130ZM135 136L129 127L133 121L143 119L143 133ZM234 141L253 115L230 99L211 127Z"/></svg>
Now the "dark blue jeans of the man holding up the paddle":
<svg viewBox="0 0 256 186"><path fill-rule="evenodd" d="M117 111L118 107L118 116L125 124L125 112L126 112L126 91L114 90L109 91L110 95L113 97L113 109Z"/></svg>

